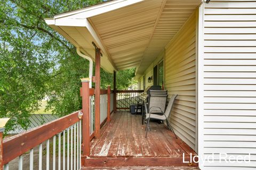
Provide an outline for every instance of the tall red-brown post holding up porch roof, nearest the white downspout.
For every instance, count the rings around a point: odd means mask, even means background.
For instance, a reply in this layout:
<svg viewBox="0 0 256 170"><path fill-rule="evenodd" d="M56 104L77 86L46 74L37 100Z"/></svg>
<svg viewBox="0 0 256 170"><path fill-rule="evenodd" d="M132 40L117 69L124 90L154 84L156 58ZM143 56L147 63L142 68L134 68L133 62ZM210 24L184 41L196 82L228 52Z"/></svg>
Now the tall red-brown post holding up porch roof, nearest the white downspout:
<svg viewBox="0 0 256 170"><path fill-rule="evenodd" d="M95 137L100 137L100 48L95 48Z"/></svg>

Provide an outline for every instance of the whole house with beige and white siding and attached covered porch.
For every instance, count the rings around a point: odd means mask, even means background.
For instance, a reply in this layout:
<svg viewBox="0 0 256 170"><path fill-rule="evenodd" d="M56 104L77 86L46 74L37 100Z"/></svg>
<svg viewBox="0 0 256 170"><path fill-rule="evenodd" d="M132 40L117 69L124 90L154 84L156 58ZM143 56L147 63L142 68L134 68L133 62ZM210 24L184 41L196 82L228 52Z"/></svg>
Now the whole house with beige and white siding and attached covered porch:
<svg viewBox="0 0 256 170"><path fill-rule="evenodd" d="M70 147L77 145L71 153L69 149L65 153L64 149L63 155L68 156L63 157L64 169L65 161L66 167L77 162L74 169L83 166L256 168L255 9L256 2L248 0L116 0L46 19L51 28L77 47L79 55L95 62L96 85L95 89L90 88L92 75L82 80L82 112L40 127L38 132L53 128L47 137L42 136L42 141L52 136L55 140L63 137L65 144L74 131L71 141L75 141ZM136 67L140 91L115 88L100 91L100 67L113 72L114 84L116 71ZM160 125L155 125L158 127L155 131L160 129L161 133L151 131L151 138L145 139L142 130L136 129L143 127L138 124L139 116L128 117L116 108L118 93L141 93L149 85L162 85L169 95L178 94L169 118L178 140ZM107 103L103 118L102 102ZM110 118L112 110L115 114ZM133 123L134 131L127 130L124 135L122 129L130 129L125 123ZM55 128L54 124L61 126ZM11 158L40 144L25 142L15 154L5 150L17 149L11 144L24 140L19 136L4 141L5 167ZM133 143L132 151L127 151L130 149L127 142ZM180 150L186 156L179 154ZM191 161L190 156L198 160ZM74 162L69 163L71 160Z"/></svg>

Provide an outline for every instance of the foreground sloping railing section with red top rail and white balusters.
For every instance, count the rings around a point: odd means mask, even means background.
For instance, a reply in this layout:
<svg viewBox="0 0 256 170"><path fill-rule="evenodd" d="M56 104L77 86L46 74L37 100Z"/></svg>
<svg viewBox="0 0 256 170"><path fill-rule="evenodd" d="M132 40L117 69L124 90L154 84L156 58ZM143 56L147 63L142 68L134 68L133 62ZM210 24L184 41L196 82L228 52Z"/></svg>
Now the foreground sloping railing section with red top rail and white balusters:
<svg viewBox="0 0 256 170"><path fill-rule="evenodd" d="M82 116L82 117L81 117ZM2 163L5 165L5 169L9 169L9 162L13 159L19 157L19 169L22 167L22 155L27 151L30 151L30 169L33 169L33 155L34 155L34 148L39 147L39 169L42 169L42 143L46 142L46 169L49 169L50 160L49 160L49 149L50 149L50 139L53 139L53 167L55 167L55 145L56 145L56 136L58 136L58 166L61 166L60 159L61 155L63 157L63 165L62 168L65 169L66 163L68 161L67 166L71 166L71 162L74 160L74 169L79 169L81 167L81 159L79 155L81 155L81 148L79 144L82 142L81 136L81 119L83 119L83 115L81 111L76 111L72 114L67 116L61 117L59 119L53 120L50 123L46 123L42 126L38 126L36 128L30 129L27 132L20 133L18 135L14 135L12 137L7 137L3 140L3 157ZM71 129L71 134L69 135ZM74 129L74 135L73 135ZM66 132L67 132L67 139L66 139ZM61 137L62 136L62 137ZM74 137L74 157L73 157L73 147L69 148L69 143L72 141L71 145L73 146L73 140L69 141L69 137L73 139ZM62 140L61 140L62 138ZM62 142L61 142L62 141ZM68 148L66 149L66 142L68 143ZM60 148L63 150L61 151ZM76 147L75 147L76 145ZM69 150L71 154L69 155ZM67 151L67 152L65 152ZM72 155L72 156L71 156ZM66 156L68 157L66 159ZM69 159L70 158L70 159ZM76 159L77 158L77 159ZM3 167L1 167L3 168Z"/></svg>

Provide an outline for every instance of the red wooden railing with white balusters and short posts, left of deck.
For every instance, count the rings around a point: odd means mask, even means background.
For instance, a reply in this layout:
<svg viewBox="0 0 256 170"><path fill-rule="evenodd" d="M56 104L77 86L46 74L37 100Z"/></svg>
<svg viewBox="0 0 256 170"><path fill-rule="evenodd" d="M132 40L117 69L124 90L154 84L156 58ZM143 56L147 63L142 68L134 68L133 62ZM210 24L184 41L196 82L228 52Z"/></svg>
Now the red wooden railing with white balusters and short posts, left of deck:
<svg viewBox="0 0 256 170"><path fill-rule="evenodd" d="M90 155L90 141L94 137L94 127L97 127L94 125L95 114L97 114L94 112L94 94L94 89L89 88L89 81L82 80L82 110L4 139L3 144L0 145L0 149L3 149L0 154L0 165L2 165L0 170L3 169L3 165L5 165L5 169L9 169L8 163L17 157L19 157L19 168L21 168L22 155L28 151L30 151L29 166L30 169L33 169L35 147L39 147L39 169L50 169L50 161L53 162L51 169L55 169L56 166L61 169L66 169L67 167L70 169L71 166L73 169L80 169L83 166L82 157ZM110 114L113 111L110 103L113 104L114 95L110 87L107 90L100 90L100 95L103 102L100 107L105 107L101 108L101 110L105 111L106 115L105 120L101 122L102 126L105 122L110 121ZM98 116L100 117L100 115ZM101 126L99 125L98 127ZM0 136L1 139L2 137ZM50 143L53 145L53 160L50 160L49 156ZM42 163L44 145L46 145L46 167ZM57 150L58 154L55 153Z"/></svg>

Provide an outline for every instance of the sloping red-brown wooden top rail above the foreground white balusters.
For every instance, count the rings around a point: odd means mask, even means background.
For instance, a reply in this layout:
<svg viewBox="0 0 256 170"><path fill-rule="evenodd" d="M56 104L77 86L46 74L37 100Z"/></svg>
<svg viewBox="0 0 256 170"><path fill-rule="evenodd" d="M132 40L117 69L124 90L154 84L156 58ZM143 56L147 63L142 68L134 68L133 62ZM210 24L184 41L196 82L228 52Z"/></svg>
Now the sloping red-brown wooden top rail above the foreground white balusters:
<svg viewBox="0 0 256 170"><path fill-rule="evenodd" d="M81 110L79 110L81 111ZM53 120L52 122L30 129L3 141L3 164L9 163L23 153L79 122L78 112Z"/></svg>

